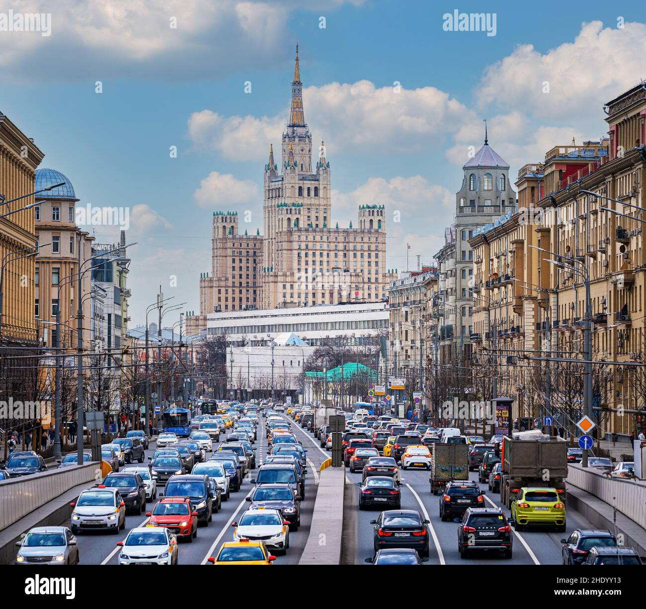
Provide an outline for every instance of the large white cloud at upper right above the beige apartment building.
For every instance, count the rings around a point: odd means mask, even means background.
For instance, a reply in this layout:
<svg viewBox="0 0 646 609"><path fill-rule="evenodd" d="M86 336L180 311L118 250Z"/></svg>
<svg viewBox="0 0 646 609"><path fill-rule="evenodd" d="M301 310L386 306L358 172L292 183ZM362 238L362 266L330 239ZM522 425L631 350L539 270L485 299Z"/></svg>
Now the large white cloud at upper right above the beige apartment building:
<svg viewBox="0 0 646 609"><path fill-rule="evenodd" d="M603 27L583 23L571 43L541 54L520 45L485 70L477 87L481 105L522 109L541 118L599 121L601 106L644 78L646 24ZM550 92L543 92L548 81Z"/></svg>

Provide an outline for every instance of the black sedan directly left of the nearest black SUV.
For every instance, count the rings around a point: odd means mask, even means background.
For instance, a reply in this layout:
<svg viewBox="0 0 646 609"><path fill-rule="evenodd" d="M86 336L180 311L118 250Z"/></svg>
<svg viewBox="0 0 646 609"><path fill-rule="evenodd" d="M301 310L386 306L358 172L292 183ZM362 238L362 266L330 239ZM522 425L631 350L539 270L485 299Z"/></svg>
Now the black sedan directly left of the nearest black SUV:
<svg viewBox="0 0 646 609"><path fill-rule="evenodd" d="M413 509L388 509L380 513L375 525L373 545L375 553L384 548L412 548L428 558L428 520Z"/></svg>

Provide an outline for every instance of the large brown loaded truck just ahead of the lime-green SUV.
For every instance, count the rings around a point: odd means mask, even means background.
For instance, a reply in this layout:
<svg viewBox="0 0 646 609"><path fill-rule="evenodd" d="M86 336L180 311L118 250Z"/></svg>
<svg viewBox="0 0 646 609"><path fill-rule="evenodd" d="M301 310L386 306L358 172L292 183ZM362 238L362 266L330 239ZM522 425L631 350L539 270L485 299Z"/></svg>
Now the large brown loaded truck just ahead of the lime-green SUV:
<svg viewBox="0 0 646 609"><path fill-rule="evenodd" d="M500 501L511 508L524 486L555 488L565 502L567 444L538 430L505 436L501 445Z"/></svg>

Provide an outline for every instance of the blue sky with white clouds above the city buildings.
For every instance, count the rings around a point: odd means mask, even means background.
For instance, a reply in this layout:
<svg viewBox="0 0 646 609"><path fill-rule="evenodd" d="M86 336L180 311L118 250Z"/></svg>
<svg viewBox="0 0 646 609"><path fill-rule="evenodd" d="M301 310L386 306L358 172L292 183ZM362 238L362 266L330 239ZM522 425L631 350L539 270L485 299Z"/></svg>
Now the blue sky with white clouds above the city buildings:
<svg viewBox="0 0 646 609"><path fill-rule="evenodd" d="M10 10L50 17L41 31L7 31ZM488 14L495 29L452 31L455 10ZM331 222L385 204L386 266L402 272L407 243L412 268L443 246L484 119L512 182L554 145L607 132L603 104L646 79L645 19L641 2L596 0L0 0L0 111L80 205L129 210L135 326L160 284L199 311L213 211L262 228L297 43ZM99 243L120 230L83 228Z"/></svg>

